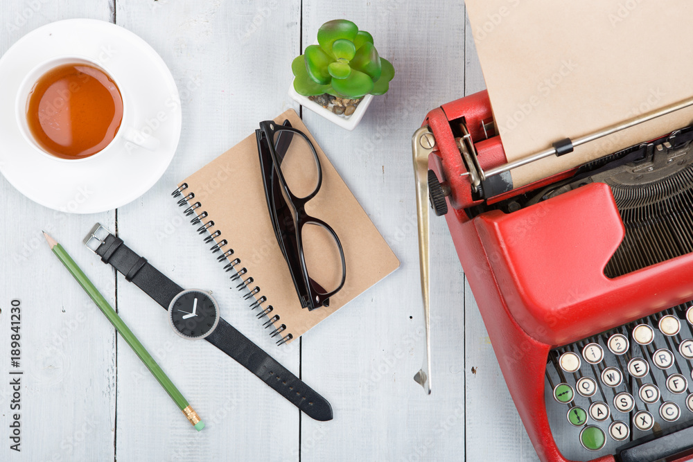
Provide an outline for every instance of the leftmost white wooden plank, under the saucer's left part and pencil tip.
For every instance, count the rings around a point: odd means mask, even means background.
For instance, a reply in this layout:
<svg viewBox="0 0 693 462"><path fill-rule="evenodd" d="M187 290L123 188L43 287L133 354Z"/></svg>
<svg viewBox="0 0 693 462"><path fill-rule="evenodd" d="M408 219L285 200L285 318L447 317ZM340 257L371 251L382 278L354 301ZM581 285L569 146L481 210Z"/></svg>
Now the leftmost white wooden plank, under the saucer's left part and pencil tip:
<svg viewBox="0 0 693 462"><path fill-rule="evenodd" d="M109 21L111 4L69 1L0 3L0 55L31 30L59 19ZM3 102L10 103L10 102ZM14 103L12 103L14 104ZM17 153L20 155L21 153ZM73 215L31 202L0 177L0 387L3 444L0 460L105 461L114 457L115 331L89 296L53 256L41 230L60 240L107 300L114 277L96 271L98 260L82 245L97 220L114 212ZM78 209L78 197L74 204ZM80 199L81 200L81 199ZM21 361L10 366L10 301L21 301ZM8 370L21 375L21 452L10 450L12 390ZM17 404L17 403L15 403Z"/></svg>

